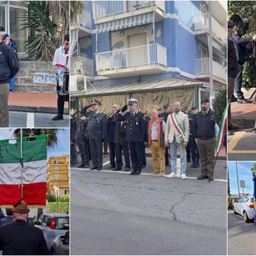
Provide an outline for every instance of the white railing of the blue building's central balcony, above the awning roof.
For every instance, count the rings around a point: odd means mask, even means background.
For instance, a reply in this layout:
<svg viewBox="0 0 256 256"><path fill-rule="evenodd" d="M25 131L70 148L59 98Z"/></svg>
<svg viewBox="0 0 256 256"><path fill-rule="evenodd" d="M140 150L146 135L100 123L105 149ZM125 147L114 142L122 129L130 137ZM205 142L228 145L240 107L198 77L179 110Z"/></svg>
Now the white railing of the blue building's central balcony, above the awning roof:
<svg viewBox="0 0 256 256"><path fill-rule="evenodd" d="M135 66L166 66L166 48L157 43L95 54L96 70L117 70Z"/></svg>

